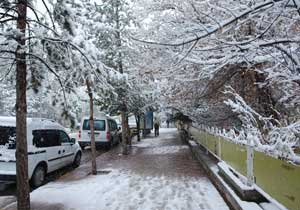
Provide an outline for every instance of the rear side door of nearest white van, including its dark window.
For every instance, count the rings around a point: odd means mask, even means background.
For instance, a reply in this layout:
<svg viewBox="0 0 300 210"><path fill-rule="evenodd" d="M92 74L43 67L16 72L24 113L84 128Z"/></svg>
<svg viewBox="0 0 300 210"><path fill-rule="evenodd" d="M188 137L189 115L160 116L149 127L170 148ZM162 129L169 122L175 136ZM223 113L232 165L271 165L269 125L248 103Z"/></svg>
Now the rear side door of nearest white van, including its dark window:
<svg viewBox="0 0 300 210"><path fill-rule="evenodd" d="M57 130L34 130L33 142L37 148L46 150L48 172L61 167L61 143Z"/></svg>

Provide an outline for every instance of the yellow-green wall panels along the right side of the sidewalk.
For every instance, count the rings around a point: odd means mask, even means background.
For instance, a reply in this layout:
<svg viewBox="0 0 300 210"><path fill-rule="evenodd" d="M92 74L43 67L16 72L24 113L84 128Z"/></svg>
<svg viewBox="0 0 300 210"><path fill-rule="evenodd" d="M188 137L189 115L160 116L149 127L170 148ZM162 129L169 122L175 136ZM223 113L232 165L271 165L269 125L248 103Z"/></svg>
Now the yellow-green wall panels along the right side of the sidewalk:
<svg viewBox="0 0 300 210"><path fill-rule="evenodd" d="M230 142L190 128L194 139L240 174L247 174L247 151L244 145ZM300 210L300 166L292 165L262 152L254 152L256 185L290 210Z"/></svg>

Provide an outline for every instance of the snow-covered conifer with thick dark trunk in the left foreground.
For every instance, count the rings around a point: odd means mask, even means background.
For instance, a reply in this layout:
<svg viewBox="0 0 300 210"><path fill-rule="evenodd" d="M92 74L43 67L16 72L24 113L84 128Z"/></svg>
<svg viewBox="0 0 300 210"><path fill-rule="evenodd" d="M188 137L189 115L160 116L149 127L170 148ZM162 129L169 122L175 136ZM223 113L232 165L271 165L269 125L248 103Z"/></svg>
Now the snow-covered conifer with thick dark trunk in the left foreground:
<svg viewBox="0 0 300 210"><path fill-rule="evenodd" d="M27 108L36 109L34 105L36 98L32 100L33 105L27 107L27 88L34 92L46 89L43 91L45 94L51 92L53 102L64 108L63 114L68 111L67 94L75 95L76 87L87 86L91 105L93 105L93 90L110 88L106 82L107 71L98 61L100 51L82 30L83 21L89 20L80 19L78 24L75 24L75 13L70 7L74 6L73 1L51 1L51 3L52 8L42 1L48 18L39 13L34 1L0 3L0 59L1 63L4 63L1 67L1 80L16 81L19 209L30 209L26 113ZM41 96L43 99L46 98L44 95ZM93 120L91 124L93 125ZM95 168L93 167L93 172L96 173Z"/></svg>

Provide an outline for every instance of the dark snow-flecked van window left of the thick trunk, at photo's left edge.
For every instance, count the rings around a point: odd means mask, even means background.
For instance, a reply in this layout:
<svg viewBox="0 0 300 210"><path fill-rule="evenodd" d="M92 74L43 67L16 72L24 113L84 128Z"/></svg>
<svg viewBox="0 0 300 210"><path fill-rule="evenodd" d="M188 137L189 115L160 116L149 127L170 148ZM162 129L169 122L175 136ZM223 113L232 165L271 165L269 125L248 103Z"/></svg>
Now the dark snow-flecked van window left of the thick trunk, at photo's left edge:
<svg viewBox="0 0 300 210"><path fill-rule="evenodd" d="M0 126L0 145L6 145L8 149L16 148L16 128Z"/></svg>

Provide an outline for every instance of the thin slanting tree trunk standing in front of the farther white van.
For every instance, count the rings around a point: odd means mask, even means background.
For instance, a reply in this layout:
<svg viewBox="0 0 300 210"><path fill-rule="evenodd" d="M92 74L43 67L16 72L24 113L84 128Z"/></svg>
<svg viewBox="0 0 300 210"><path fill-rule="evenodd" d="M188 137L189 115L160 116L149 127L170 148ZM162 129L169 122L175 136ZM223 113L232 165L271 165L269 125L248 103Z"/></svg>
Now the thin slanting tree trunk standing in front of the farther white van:
<svg viewBox="0 0 300 210"><path fill-rule="evenodd" d="M92 174L97 174L97 163L96 163L96 143L95 143L95 132L94 132L94 101L93 92L89 80L86 80L86 87L90 98L90 131L91 131L91 150L92 150Z"/></svg>

